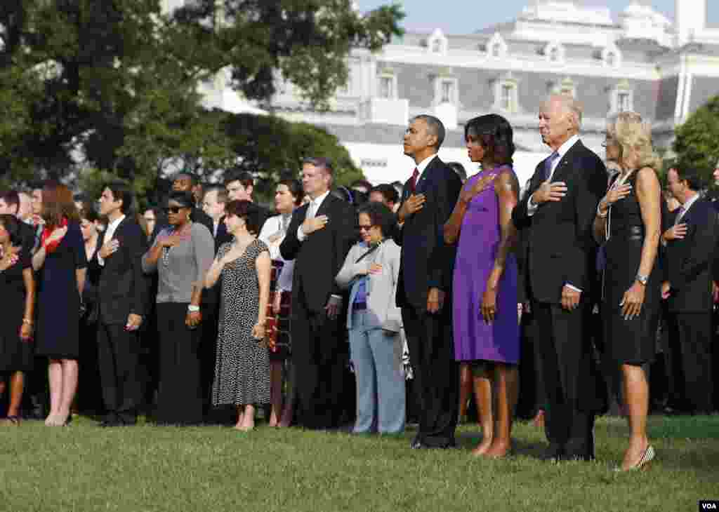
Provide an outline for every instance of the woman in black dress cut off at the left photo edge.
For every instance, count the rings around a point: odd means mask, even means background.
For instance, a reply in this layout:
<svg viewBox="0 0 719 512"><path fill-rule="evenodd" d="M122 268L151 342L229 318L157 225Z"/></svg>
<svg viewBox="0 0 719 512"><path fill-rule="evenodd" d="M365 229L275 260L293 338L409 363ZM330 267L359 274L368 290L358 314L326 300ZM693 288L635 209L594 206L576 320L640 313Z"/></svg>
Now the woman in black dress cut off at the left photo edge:
<svg viewBox="0 0 719 512"><path fill-rule="evenodd" d="M4 424L20 422L24 372L32 370L32 314L35 305L35 281L26 248L22 246L20 221L13 215L0 215L0 297L3 320L0 322L0 386L10 381L10 404ZM1 389L1 388L0 388ZM2 391L0 391L0 394Z"/></svg>

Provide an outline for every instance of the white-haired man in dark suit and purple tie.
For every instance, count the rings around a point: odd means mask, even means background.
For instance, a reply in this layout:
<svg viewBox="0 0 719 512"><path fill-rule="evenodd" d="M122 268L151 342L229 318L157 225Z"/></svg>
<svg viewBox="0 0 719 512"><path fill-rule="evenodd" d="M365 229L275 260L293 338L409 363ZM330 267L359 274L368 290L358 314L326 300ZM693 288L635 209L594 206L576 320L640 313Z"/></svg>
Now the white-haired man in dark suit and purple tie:
<svg viewBox="0 0 719 512"><path fill-rule="evenodd" d="M580 141L581 121L581 107L569 96L543 103L539 132L552 154L536 167L512 215L518 229L528 230L528 289L551 460L594 458L594 418L603 405L584 319L594 280L592 223L607 173Z"/></svg>

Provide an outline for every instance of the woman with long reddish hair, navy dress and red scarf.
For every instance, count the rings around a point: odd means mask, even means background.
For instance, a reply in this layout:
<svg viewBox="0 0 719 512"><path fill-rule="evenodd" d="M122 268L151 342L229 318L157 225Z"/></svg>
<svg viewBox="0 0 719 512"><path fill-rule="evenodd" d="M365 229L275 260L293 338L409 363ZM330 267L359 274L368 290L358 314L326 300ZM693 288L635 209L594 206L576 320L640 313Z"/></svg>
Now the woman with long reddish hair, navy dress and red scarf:
<svg viewBox="0 0 719 512"><path fill-rule="evenodd" d="M50 414L45 424L68 424L78 388L80 306L87 256L73 194L58 182L42 189L40 247L32 256L37 271L37 355L50 360Z"/></svg>

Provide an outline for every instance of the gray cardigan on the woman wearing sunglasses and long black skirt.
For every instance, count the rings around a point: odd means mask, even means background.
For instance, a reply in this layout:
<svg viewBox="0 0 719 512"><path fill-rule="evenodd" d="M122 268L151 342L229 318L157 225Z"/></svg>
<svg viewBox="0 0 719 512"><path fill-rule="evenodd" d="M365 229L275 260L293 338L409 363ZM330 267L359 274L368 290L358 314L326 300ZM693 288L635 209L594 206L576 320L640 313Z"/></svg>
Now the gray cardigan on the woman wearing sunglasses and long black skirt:
<svg viewBox="0 0 719 512"><path fill-rule="evenodd" d="M160 233L157 238L165 235ZM157 240L155 241L157 243ZM145 273L157 271L159 280L157 284L157 302L188 303L192 300L193 285L199 283L203 286L205 275L212 265L215 242L209 229L200 223L193 223L190 238L178 243L165 256L160 256L157 263L147 263L150 251L142 256L142 270Z"/></svg>

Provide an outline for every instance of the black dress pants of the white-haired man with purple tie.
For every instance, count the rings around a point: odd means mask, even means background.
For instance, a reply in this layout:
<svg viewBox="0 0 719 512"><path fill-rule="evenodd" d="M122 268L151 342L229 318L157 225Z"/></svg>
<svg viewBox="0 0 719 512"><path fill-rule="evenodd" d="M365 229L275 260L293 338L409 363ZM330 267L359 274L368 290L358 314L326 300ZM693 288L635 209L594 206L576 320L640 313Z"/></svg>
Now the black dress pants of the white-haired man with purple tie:
<svg viewBox="0 0 719 512"><path fill-rule="evenodd" d="M559 457L594 458L597 371L591 340L583 331L585 307L567 312L560 304L535 303L536 350L544 378L544 429Z"/></svg>

